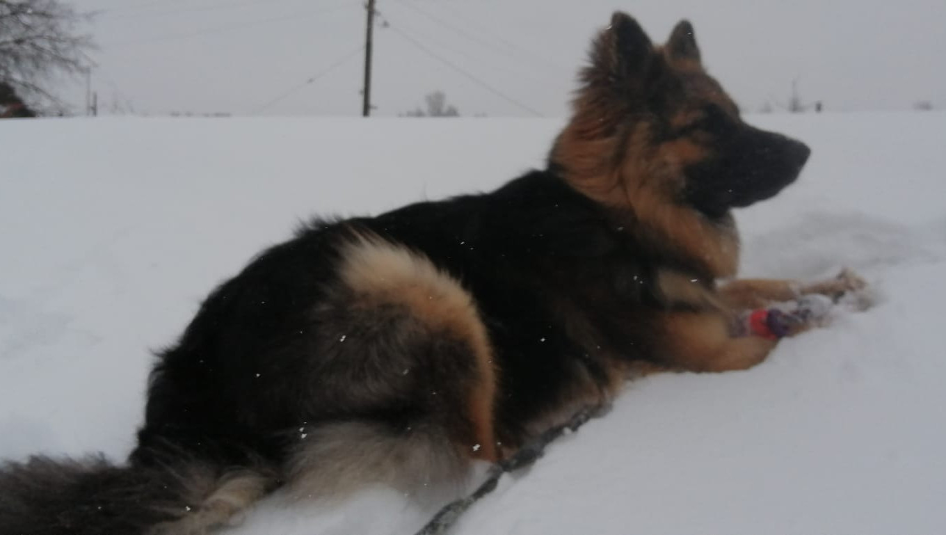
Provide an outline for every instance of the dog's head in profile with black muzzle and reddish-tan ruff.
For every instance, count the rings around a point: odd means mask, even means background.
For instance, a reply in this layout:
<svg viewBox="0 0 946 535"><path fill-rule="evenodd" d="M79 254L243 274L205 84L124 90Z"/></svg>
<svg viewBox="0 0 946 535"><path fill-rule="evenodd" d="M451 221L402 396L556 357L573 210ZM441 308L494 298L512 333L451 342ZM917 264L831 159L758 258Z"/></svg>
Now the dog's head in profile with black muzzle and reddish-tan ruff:
<svg viewBox="0 0 946 535"><path fill-rule="evenodd" d="M686 209L723 221L791 184L809 149L753 128L703 68L689 22L663 46L617 12L594 40L552 169L588 197L639 215Z"/></svg>

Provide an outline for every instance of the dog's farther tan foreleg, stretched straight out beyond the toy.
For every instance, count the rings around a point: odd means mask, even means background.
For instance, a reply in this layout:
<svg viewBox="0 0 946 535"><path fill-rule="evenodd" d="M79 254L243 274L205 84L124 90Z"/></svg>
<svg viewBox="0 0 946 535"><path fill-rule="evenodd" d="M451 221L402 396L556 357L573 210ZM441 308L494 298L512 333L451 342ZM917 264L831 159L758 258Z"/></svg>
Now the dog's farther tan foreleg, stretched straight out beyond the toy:
<svg viewBox="0 0 946 535"><path fill-rule="evenodd" d="M802 295L823 294L836 296L866 286L864 279L849 270L838 276L813 283L796 280L745 278L733 280L719 288L717 293L733 310L760 309L774 302L790 301Z"/></svg>

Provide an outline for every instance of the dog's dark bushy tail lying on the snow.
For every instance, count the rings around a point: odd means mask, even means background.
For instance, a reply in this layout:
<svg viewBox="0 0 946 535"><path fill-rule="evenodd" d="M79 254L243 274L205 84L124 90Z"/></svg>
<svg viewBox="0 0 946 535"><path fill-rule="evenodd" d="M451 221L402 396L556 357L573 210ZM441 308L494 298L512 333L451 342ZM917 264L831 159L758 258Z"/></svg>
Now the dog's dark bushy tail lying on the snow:
<svg viewBox="0 0 946 535"><path fill-rule="evenodd" d="M256 475L193 461L146 467L115 466L103 456L34 456L0 468L0 534L203 533L266 485Z"/></svg>

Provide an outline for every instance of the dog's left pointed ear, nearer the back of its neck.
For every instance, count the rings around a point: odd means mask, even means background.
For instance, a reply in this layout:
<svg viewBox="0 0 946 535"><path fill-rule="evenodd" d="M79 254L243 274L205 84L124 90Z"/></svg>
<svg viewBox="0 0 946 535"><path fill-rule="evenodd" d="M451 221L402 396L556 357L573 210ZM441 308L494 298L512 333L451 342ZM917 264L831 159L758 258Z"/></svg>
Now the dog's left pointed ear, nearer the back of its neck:
<svg viewBox="0 0 946 535"><path fill-rule="evenodd" d="M653 54L654 45L638 22L615 11L592 45L591 70L608 80L633 80L646 72Z"/></svg>

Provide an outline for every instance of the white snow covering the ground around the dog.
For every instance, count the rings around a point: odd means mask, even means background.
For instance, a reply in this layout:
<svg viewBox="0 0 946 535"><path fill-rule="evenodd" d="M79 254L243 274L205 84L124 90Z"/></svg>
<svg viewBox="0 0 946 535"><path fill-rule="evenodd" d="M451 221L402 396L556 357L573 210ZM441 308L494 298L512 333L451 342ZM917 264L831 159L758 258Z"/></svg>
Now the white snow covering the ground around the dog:
<svg viewBox="0 0 946 535"><path fill-rule="evenodd" d="M457 535L946 532L946 115L753 119L814 155L795 186L738 213L743 275L847 266L874 307L840 310L746 372L629 384ZM0 457L121 459L148 349L260 248L309 214L496 187L540 165L560 126L0 121ZM436 505L384 489L330 505L277 495L227 535L410 535Z"/></svg>

